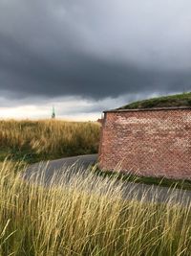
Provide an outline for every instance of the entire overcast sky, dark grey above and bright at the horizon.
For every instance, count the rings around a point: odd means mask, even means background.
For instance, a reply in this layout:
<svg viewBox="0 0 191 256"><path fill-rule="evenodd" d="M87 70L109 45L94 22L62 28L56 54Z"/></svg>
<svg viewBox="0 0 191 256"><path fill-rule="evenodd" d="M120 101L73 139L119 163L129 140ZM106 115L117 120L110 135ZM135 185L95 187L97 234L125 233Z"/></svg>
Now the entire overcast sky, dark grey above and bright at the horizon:
<svg viewBox="0 0 191 256"><path fill-rule="evenodd" d="M190 0L0 0L0 118L94 120L191 90Z"/></svg>

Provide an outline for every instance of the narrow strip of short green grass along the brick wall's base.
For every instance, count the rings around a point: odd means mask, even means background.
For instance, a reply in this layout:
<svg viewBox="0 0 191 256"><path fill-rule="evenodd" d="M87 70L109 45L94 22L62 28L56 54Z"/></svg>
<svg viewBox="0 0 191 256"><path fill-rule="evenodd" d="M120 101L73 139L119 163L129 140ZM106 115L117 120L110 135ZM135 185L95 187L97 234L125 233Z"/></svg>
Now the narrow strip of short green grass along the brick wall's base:
<svg viewBox="0 0 191 256"><path fill-rule="evenodd" d="M98 168L93 169L96 175L109 177L111 179L117 178L121 181L129 181L134 183L143 183L147 185L156 185L161 187L170 187L172 189L191 190L191 180L170 179L165 177L154 176L139 176L133 174L122 174L111 171L101 171Z"/></svg>

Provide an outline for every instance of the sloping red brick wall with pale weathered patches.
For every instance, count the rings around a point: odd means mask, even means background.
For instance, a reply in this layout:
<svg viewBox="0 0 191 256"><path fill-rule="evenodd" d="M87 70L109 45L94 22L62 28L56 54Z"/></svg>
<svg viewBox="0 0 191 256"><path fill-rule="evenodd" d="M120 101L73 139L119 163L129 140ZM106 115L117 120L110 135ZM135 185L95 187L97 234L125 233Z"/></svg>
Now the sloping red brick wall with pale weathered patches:
<svg viewBox="0 0 191 256"><path fill-rule="evenodd" d="M191 108L105 113L99 166L191 179Z"/></svg>

